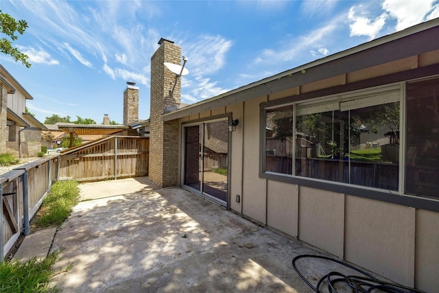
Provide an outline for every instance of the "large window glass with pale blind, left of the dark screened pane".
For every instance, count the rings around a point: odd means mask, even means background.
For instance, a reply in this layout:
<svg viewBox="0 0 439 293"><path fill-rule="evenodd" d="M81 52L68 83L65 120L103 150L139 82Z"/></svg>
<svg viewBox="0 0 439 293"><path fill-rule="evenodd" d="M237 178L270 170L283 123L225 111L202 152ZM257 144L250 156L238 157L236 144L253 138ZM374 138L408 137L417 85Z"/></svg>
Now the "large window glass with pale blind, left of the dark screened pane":
<svg viewBox="0 0 439 293"><path fill-rule="evenodd" d="M399 191L400 93L398 84L265 110L265 172Z"/></svg>

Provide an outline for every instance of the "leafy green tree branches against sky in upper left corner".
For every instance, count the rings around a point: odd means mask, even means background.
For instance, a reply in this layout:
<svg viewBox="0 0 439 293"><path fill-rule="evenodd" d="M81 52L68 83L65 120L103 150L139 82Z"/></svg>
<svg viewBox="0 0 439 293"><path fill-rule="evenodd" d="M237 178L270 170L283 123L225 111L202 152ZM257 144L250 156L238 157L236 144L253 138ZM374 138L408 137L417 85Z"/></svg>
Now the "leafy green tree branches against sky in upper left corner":
<svg viewBox="0 0 439 293"><path fill-rule="evenodd" d="M0 51L1 53L12 56L15 61L21 61L23 65L29 68L31 67L31 64L27 61L29 56L12 46L12 42L19 38L15 33L23 34L26 29L26 21L23 19L16 21L12 16L0 10L0 32L6 36L0 38Z"/></svg>

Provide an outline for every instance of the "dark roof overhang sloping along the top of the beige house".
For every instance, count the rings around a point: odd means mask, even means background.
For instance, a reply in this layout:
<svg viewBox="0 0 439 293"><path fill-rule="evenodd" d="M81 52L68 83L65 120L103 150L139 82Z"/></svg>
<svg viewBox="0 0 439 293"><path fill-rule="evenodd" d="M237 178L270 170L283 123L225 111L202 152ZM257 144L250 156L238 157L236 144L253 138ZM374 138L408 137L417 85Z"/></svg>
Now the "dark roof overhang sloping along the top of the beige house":
<svg viewBox="0 0 439 293"><path fill-rule="evenodd" d="M337 75L439 49L439 19L414 25L400 32L371 40L357 47L309 62L300 67L253 82L185 108L163 114L164 121L244 102Z"/></svg>

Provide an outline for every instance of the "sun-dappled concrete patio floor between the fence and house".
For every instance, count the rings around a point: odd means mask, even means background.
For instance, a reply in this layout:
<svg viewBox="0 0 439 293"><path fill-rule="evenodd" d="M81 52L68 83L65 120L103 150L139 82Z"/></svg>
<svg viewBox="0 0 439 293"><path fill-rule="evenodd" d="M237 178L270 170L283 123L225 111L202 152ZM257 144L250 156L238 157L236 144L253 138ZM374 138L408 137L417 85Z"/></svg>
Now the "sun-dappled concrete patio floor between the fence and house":
<svg viewBox="0 0 439 293"><path fill-rule="evenodd" d="M147 178L81 185L86 199L54 238L62 292L313 292L292 268L319 253L180 188ZM316 284L322 261L299 263Z"/></svg>

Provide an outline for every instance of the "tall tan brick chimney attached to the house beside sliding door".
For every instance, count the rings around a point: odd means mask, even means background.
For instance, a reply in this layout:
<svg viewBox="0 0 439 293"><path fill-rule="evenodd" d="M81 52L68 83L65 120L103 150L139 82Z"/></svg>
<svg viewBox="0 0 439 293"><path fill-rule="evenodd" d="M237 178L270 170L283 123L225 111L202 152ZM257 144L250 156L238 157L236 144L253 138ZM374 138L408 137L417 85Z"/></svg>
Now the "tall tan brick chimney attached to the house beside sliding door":
<svg viewBox="0 0 439 293"><path fill-rule="evenodd" d="M161 38L151 57L150 180L161 187L176 186L178 178L178 120L163 121L163 111L180 104L180 78L164 62L181 64L181 47ZM174 88L174 83L175 88ZM174 88L174 93L171 91Z"/></svg>

